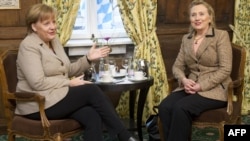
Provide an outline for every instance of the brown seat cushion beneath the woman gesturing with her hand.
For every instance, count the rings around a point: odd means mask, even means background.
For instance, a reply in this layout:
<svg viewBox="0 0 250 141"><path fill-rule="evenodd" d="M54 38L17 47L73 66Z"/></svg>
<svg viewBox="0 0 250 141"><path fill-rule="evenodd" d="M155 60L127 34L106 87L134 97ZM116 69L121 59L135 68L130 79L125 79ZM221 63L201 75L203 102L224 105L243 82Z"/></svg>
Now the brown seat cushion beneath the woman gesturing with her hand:
<svg viewBox="0 0 250 141"><path fill-rule="evenodd" d="M74 119L49 120L50 133L55 134L67 133L82 128L81 125ZM19 133L29 133L30 135L44 135L42 122L40 120L32 120L22 116L14 116L12 130Z"/></svg>

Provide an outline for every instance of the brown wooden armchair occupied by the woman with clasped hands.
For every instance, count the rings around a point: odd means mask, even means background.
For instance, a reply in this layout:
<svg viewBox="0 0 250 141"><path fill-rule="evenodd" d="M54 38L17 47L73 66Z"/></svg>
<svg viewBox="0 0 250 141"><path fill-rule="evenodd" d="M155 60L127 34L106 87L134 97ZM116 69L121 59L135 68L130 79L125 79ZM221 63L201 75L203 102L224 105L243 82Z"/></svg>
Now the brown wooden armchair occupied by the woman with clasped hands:
<svg viewBox="0 0 250 141"><path fill-rule="evenodd" d="M242 91L244 86L244 69L246 51L244 47L232 44L233 67L231 72L232 82L228 86L228 103L224 108L208 110L193 120L193 126L214 127L219 129L219 139L224 141L225 124L241 124ZM169 79L170 91L176 85L175 79ZM164 141L160 119L158 120L161 140ZM191 137L191 136L190 136Z"/></svg>

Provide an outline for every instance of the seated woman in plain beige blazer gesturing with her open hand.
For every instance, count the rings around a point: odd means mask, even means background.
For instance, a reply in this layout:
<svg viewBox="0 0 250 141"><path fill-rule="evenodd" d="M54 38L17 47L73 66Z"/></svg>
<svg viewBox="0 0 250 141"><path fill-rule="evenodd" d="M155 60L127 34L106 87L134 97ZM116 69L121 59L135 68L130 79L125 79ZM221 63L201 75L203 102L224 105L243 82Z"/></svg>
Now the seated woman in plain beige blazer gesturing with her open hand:
<svg viewBox="0 0 250 141"><path fill-rule="evenodd" d="M45 4L36 4L28 11L28 35L20 44L17 58L17 91L45 96L47 117L79 121L85 127L85 141L102 141L103 123L119 140L134 141L107 96L82 79L91 61L107 56L110 48L93 45L88 55L71 63L56 36L55 18L54 9ZM15 113L39 119L38 111L36 103L19 101Z"/></svg>

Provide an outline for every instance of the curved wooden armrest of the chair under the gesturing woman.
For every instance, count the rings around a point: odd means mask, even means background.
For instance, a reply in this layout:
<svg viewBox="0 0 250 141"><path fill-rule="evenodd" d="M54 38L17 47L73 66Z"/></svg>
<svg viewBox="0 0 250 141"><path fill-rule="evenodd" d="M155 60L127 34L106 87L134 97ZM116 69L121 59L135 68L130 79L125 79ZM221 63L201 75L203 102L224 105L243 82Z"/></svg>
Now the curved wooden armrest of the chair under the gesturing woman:
<svg viewBox="0 0 250 141"><path fill-rule="evenodd" d="M36 93L19 93L16 92L15 99L17 101L35 101L38 103L40 118L42 121L43 128L48 128L50 126L50 122L45 114L45 97Z"/></svg>

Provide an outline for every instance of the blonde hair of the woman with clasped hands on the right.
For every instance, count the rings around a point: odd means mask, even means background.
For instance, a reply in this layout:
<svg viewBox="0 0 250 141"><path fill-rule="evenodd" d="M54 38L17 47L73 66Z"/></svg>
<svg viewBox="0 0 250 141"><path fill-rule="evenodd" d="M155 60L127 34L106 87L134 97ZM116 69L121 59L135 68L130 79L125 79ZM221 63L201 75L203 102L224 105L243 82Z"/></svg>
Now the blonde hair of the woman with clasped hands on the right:
<svg viewBox="0 0 250 141"><path fill-rule="evenodd" d="M189 4L189 8L188 8L189 9L189 11L188 11L189 16L191 15L192 7L194 7L196 5L204 5L207 8L207 12L211 16L211 22L209 24L210 24L211 27L216 28L214 9L212 8L212 6L210 4L208 4L204 0L194 0ZM190 32L194 31L194 29L193 29L193 27L191 25L189 27L189 31Z"/></svg>

